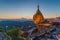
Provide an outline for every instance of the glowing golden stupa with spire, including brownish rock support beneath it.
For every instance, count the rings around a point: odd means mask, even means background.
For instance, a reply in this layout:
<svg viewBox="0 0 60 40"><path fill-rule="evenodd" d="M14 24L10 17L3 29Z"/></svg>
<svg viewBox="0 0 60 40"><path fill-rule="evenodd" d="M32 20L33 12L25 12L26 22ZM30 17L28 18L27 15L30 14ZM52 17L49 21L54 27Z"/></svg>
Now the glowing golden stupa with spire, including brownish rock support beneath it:
<svg viewBox="0 0 60 40"><path fill-rule="evenodd" d="M41 11L39 10L39 5L37 6L37 8L38 9L36 11L36 14L33 16L33 20L37 26L38 32L41 32L41 31L43 31L44 27L42 27L42 25L40 25L40 24L43 24L44 17L42 15Z"/></svg>

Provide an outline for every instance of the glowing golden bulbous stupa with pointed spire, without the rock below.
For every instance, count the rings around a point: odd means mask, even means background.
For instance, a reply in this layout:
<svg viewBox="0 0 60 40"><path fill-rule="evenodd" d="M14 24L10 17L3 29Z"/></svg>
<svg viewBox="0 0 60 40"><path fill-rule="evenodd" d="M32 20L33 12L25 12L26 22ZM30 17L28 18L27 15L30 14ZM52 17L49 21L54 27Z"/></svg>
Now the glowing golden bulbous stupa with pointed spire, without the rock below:
<svg viewBox="0 0 60 40"><path fill-rule="evenodd" d="M44 22L44 17L41 13L41 11L39 10L39 5L37 7L37 11L36 11L36 14L33 16L33 20L34 20L34 23L35 24L40 24L42 22Z"/></svg>

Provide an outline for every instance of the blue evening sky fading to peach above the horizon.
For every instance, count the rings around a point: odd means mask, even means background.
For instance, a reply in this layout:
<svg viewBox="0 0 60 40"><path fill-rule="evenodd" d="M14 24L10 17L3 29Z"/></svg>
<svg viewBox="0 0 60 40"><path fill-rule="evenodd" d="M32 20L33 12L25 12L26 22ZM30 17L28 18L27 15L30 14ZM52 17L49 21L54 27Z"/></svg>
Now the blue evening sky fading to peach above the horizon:
<svg viewBox="0 0 60 40"><path fill-rule="evenodd" d="M0 19L33 18L38 3L45 18L60 16L60 0L0 0Z"/></svg>

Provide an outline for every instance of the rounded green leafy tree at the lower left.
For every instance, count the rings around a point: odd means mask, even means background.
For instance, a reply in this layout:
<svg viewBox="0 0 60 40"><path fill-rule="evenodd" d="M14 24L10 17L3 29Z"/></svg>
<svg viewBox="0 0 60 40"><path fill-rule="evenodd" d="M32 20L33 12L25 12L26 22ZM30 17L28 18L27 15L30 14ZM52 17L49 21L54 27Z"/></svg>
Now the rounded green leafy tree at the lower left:
<svg viewBox="0 0 60 40"><path fill-rule="evenodd" d="M12 40L17 40L18 39L18 28L13 28L11 30L7 30L6 33L12 37Z"/></svg>

